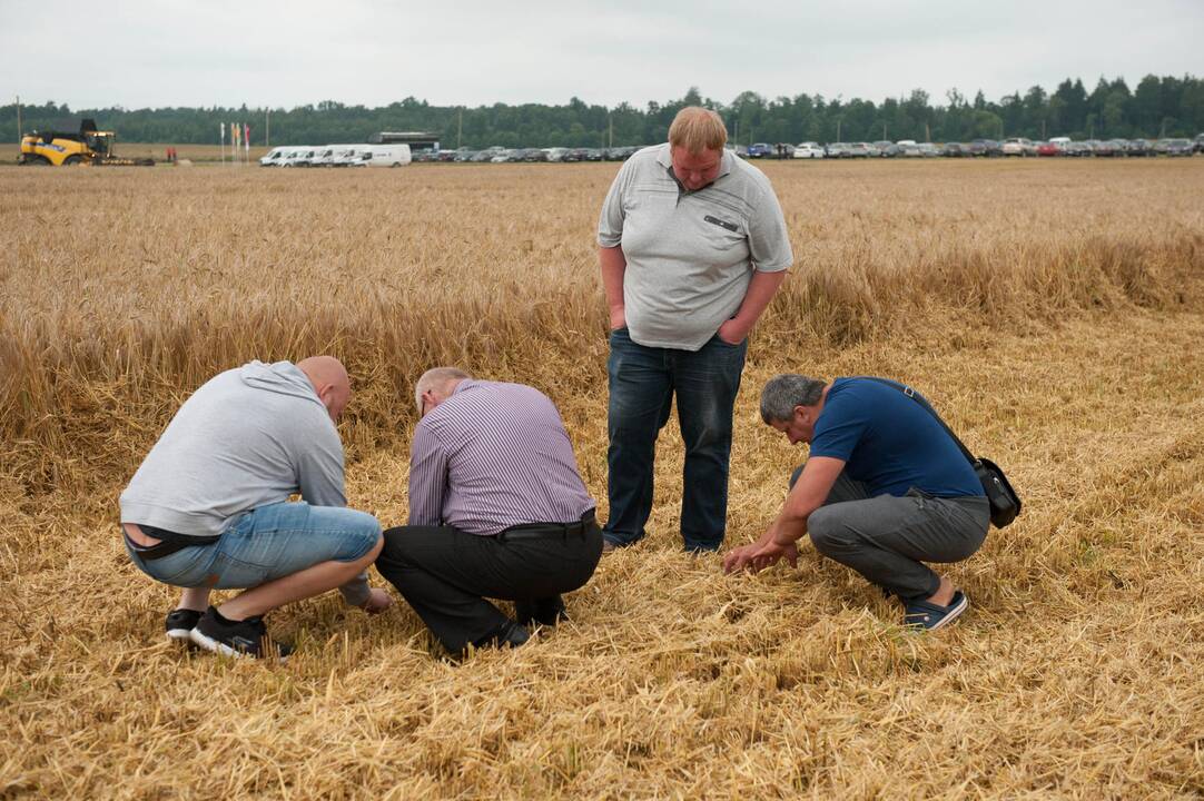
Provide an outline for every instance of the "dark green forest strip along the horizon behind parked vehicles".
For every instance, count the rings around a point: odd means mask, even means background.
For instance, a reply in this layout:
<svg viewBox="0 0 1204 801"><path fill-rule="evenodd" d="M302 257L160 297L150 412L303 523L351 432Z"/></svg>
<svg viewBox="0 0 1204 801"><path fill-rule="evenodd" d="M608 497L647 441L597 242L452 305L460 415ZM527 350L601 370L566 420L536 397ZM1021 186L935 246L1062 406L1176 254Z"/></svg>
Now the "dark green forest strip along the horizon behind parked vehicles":
<svg viewBox="0 0 1204 801"><path fill-rule="evenodd" d="M1158 139L1204 131L1204 79L1149 75L1135 88L1123 78L1100 77L1087 92L1079 78L1066 79L1052 93L1032 87L990 101L979 92L967 99L951 90L944 102L916 89L907 98L880 104L801 94L767 99L744 92L730 104L703 98L691 88L680 100L649 102L647 108L619 104L614 108L573 98L566 105L495 104L474 108L432 106L406 98L378 108L347 106L335 100L284 108L81 108L48 101L22 107L22 125L34 129L77 129L93 117L120 141L217 143L219 123L248 123L252 145L265 143L270 116L271 145L362 142L377 131L432 131L443 148L615 147L663 142L679 108L706 105L724 116L731 139L751 142L857 142L913 139L954 142L1027 136L1049 139ZM17 107L0 106L0 139L17 132Z"/></svg>

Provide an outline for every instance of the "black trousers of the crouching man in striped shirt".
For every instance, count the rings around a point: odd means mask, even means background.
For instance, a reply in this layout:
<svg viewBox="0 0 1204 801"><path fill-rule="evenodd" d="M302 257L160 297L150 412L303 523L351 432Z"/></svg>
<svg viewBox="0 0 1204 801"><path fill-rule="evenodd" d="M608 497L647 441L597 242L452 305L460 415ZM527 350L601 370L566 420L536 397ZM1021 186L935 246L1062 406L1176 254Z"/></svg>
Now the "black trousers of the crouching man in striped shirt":
<svg viewBox="0 0 1204 801"><path fill-rule="evenodd" d="M535 523L488 537L454 526L384 532L376 566L453 653L496 634L508 618L486 601L559 603L583 587L602 555L594 520Z"/></svg>

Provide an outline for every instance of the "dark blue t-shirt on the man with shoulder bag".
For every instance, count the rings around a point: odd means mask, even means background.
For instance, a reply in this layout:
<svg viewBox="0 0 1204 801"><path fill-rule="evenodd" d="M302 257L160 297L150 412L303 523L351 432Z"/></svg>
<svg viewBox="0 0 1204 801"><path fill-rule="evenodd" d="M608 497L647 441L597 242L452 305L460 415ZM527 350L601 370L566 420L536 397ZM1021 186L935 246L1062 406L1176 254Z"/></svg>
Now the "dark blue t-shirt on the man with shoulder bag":
<svg viewBox="0 0 1204 801"><path fill-rule="evenodd" d="M982 495L966 455L940 423L896 387L837 378L815 422L813 457L845 461L872 496L916 487L937 497Z"/></svg>

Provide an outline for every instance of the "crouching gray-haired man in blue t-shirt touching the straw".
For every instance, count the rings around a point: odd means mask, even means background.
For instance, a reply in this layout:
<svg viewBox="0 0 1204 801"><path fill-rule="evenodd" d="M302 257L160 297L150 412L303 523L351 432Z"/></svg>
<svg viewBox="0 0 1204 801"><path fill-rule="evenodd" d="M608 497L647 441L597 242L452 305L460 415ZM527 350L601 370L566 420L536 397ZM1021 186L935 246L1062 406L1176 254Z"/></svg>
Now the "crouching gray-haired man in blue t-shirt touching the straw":
<svg viewBox="0 0 1204 801"><path fill-rule="evenodd" d="M765 535L727 553L727 572L796 564L796 542L809 534L816 550L897 595L910 625L939 629L966 609L966 594L923 563L974 554L990 507L961 448L904 389L792 373L765 385L761 418L791 444L810 443L810 455Z"/></svg>

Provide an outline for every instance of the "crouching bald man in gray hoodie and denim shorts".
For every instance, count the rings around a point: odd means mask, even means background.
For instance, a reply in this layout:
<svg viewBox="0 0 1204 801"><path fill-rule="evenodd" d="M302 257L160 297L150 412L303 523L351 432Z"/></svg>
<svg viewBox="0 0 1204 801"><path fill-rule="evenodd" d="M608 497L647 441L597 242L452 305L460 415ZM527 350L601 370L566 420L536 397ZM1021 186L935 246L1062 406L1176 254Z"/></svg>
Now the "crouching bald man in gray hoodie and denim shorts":
<svg viewBox="0 0 1204 801"><path fill-rule="evenodd" d="M365 570L380 524L344 508L343 446L335 422L350 399L332 357L252 361L184 401L122 493L134 564L184 588L167 636L229 655L287 656L262 616L336 587L370 614L391 603ZM302 501L289 502L300 493ZM213 588L247 591L208 606Z"/></svg>

